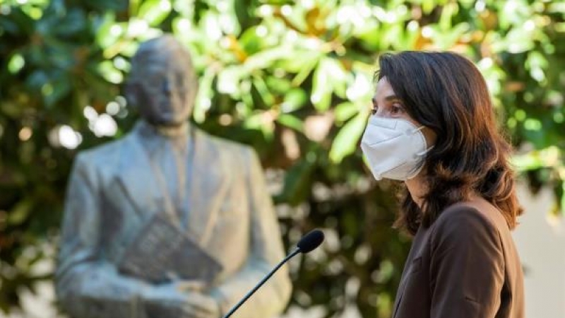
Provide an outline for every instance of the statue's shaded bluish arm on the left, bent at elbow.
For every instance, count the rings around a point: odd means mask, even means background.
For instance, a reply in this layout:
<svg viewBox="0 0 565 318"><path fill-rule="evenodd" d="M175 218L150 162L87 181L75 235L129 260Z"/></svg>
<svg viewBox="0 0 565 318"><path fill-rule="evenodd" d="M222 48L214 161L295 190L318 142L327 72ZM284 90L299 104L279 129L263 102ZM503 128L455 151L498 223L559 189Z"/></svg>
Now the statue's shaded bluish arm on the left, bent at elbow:
<svg viewBox="0 0 565 318"><path fill-rule="evenodd" d="M119 275L100 256L102 211L95 170L78 155L66 194L56 271L61 307L71 317L143 317L138 294L147 284Z"/></svg>

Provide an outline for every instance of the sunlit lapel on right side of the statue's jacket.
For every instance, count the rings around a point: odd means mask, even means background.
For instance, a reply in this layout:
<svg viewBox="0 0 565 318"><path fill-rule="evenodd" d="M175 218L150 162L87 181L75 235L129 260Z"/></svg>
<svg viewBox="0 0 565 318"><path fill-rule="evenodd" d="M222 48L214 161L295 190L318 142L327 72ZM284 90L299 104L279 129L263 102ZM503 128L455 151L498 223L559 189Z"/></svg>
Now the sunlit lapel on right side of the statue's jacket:
<svg viewBox="0 0 565 318"><path fill-rule="evenodd" d="M222 151L203 131L191 129L193 142L189 185L188 228L191 237L201 245L208 242L218 211L224 201L230 175L223 163Z"/></svg>

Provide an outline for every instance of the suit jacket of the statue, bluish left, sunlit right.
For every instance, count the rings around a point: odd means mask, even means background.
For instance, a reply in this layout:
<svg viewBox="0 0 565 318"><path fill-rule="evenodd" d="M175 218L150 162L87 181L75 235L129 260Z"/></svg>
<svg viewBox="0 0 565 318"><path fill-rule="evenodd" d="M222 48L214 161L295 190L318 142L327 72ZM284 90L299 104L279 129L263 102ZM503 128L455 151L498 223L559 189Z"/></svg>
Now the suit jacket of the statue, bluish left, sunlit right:
<svg viewBox="0 0 565 318"><path fill-rule="evenodd" d="M226 312L284 257L283 246L254 151L194 127L190 131L190 213L182 226L223 266L210 293ZM162 189L142 143L134 129L75 160L56 273L59 301L72 317L143 317L136 299L147 283L117 271L129 242L163 209ZM240 308L239 317L280 312L290 289L283 268Z"/></svg>

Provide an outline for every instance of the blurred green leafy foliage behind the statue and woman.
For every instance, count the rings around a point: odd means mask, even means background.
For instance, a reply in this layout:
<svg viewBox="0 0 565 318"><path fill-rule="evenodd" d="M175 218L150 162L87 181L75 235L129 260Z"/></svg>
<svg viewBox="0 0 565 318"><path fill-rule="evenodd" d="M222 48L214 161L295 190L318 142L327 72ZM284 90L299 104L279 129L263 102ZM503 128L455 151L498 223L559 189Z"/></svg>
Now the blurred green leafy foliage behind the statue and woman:
<svg viewBox="0 0 565 318"><path fill-rule="evenodd" d="M326 231L291 264L291 305L391 313L410 241L391 229L396 184L374 182L358 147L381 52L473 59L516 167L534 192L554 189L548 213L564 211L565 1L0 0L4 312L52 278L73 157L129 131L129 59L162 32L194 54L195 124L261 155L287 247Z"/></svg>

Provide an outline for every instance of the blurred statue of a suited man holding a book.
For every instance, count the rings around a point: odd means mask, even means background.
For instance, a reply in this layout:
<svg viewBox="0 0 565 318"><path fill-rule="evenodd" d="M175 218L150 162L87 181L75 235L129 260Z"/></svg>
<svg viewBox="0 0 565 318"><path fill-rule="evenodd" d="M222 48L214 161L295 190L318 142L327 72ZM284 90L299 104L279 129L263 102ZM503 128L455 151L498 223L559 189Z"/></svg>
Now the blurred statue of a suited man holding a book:
<svg viewBox="0 0 565 318"><path fill-rule="evenodd" d="M77 155L66 194L56 288L73 318L219 318L283 258L256 153L188 122L198 89L171 35L144 42L126 98L142 119ZM239 317L290 297L275 274Z"/></svg>

